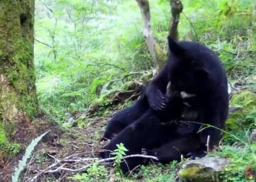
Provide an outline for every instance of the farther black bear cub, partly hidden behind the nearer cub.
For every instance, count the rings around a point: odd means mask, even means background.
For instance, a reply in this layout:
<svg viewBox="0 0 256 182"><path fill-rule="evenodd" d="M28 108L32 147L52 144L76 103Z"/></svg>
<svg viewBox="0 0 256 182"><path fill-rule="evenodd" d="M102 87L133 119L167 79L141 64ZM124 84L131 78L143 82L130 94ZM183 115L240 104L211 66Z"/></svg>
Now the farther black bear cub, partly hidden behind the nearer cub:
<svg viewBox="0 0 256 182"><path fill-rule="evenodd" d="M138 100L132 106L117 112L112 119L108 121L102 140L111 139L114 134L118 134L148 110L149 105L146 97L146 89L146 86L142 86L141 95Z"/></svg>

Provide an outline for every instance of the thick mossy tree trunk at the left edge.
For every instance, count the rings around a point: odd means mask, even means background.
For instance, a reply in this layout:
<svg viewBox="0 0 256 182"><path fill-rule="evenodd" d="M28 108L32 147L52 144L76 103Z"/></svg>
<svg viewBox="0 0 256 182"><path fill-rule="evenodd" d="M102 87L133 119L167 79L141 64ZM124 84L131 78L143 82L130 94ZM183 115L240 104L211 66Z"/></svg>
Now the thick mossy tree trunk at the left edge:
<svg viewBox="0 0 256 182"><path fill-rule="evenodd" d="M14 138L37 116L34 0L0 0L0 135ZM1 143L0 143L1 145Z"/></svg>

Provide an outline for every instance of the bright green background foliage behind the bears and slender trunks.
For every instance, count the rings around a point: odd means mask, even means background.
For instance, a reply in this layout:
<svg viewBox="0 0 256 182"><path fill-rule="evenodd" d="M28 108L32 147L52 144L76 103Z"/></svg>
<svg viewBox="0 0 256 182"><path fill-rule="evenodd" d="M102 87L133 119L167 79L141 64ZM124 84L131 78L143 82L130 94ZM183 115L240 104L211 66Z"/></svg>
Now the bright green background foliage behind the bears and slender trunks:
<svg viewBox="0 0 256 182"><path fill-rule="evenodd" d="M200 42L217 51L230 77L256 72L253 0L184 0L182 4ZM121 81L112 80L154 67L136 1L46 0L43 4L37 0L36 7L35 37L46 44L36 41L34 47L38 98L58 123L74 109L83 111L93 100L121 88ZM156 0L150 7L154 37L166 50L169 3ZM196 41L194 29L182 14L180 39L192 35ZM136 76L140 75L127 80Z"/></svg>

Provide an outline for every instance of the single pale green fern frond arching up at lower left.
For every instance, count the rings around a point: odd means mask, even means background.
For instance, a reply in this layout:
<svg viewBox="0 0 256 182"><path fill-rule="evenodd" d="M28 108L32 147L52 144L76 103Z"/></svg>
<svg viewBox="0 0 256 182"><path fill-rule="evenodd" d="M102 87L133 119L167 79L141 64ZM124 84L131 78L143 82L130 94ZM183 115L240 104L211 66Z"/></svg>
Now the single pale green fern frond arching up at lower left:
<svg viewBox="0 0 256 182"><path fill-rule="evenodd" d="M20 173L22 172L22 170L26 166L26 162L30 158L30 155L31 155L31 153L34 150L34 147L36 147L36 145L42 139L42 137L44 137L44 135L46 135L49 131L47 131L44 134L40 135L36 139L33 139L31 141L31 143L28 145L28 147L26 149L26 152L25 152L24 156L22 157L22 160L19 161L18 168L15 168L15 170L14 170L14 175L12 176L12 182L18 182Z"/></svg>

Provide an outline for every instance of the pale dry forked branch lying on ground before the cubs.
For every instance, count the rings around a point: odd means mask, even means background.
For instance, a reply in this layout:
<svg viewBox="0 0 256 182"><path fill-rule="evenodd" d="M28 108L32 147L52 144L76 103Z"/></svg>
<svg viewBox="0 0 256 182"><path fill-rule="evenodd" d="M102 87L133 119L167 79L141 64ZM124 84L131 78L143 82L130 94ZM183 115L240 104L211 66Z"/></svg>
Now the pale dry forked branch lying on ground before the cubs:
<svg viewBox="0 0 256 182"><path fill-rule="evenodd" d="M80 154L83 154L83 153L80 153ZM69 169L69 168L63 168L63 167L58 167L54 170L51 170L51 168L57 166L60 162L81 162L82 161L89 161L89 160L98 160L99 158L89 158L89 159L76 159L76 160L72 160L70 159L71 157L75 156L75 155L80 155L80 154L73 154L73 155L70 155L68 157L65 157L64 159L60 160L60 159L56 159L56 162L50 166L48 166L47 168L45 168L44 170L42 170L41 172L39 172L38 174L36 174L36 176L34 176L32 179L30 179L30 182L34 182L39 176L41 176L42 174L44 173L54 173L54 172L57 172L59 170L67 170L67 171L71 171L71 172L77 172L77 171L81 171L81 170L86 170L86 168L90 167L92 164L88 164L86 166L83 166L79 169ZM150 156L150 155L140 155L140 154L135 154L135 155L128 155L128 156L124 156L122 159L128 159L128 158L131 158L131 157L144 157L144 158L148 158L148 159L154 159L154 160L158 160L157 157L154 157L154 156ZM53 157L54 159L54 157ZM96 163L100 164L100 163L104 163L108 160L114 160L115 157L110 157L110 158L107 158L107 159L100 159L98 161L96 161Z"/></svg>

